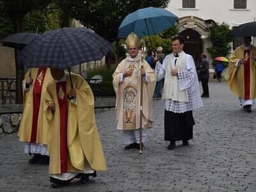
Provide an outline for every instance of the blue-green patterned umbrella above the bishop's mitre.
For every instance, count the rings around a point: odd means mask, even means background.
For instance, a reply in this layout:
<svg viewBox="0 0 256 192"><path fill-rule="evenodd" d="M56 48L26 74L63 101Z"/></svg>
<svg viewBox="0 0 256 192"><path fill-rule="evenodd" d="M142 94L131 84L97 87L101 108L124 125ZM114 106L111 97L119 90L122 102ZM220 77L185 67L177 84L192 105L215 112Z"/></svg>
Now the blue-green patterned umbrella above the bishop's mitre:
<svg viewBox="0 0 256 192"><path fill-rule="evenodd" d="M174 26L177 16L162 8L148 7L133 12L123 20L118 29L118 38L126 38L131 32L138 37L156 35Z"/></svg>

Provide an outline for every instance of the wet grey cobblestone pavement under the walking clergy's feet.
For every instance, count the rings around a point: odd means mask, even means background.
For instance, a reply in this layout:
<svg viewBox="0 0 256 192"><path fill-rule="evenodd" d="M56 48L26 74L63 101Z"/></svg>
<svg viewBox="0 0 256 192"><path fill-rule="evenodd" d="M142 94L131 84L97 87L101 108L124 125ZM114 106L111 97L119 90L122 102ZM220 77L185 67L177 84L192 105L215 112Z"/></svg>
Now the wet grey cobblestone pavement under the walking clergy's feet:
<svg viewBox="0 0 256 192"><path fill-rule="evenodd" d="M154 127L143 154L124 150L113 110L97 113L108 170L88 184L50 187L48 166L28 164L17 134L0 136L1 191L256 191L256 109L245 113L227 84L210 83L210 98L194 111L194 139L168 150L163 100L154 100Z"/></svg>

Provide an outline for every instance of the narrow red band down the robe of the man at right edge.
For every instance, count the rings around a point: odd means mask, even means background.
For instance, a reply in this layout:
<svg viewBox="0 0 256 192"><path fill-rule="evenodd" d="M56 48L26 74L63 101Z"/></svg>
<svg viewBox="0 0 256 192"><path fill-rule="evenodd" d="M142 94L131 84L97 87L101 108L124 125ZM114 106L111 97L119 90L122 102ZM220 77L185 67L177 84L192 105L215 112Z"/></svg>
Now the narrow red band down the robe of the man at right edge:
<svg viewBox="0 0 256 192"><path fill-rule="evenodd" d="M250 50L244 50L244 99L250 99Z"/></svg>

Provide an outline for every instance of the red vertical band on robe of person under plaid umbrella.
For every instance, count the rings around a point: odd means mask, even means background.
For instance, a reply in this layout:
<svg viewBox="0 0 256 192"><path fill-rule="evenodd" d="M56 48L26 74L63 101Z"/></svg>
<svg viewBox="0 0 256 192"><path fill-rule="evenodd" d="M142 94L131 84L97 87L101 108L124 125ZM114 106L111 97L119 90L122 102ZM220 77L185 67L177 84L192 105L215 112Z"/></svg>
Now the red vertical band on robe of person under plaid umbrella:
<svg viewBox="0 0 256 192"><path fill-rule="evenodd" d="M61 88L61 93L60 93ZM61 173L67 173L67 88L66 81L56 83L58 103L60 106L60 166Z"/></svg>

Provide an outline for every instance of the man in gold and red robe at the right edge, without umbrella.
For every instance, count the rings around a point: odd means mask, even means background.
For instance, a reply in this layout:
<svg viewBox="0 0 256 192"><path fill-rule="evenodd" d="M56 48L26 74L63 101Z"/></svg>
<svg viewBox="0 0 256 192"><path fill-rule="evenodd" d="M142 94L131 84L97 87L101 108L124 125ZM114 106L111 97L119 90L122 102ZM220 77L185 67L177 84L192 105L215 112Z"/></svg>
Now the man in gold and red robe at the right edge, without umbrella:
<svg viewBox="0 0 256 192"><path fill-rule="evenodd" d="M244 111L250 113L256 98L256 47L251 45L250 36L244 36L243 40L244 44L230 56L227 83Z"/></svg>

